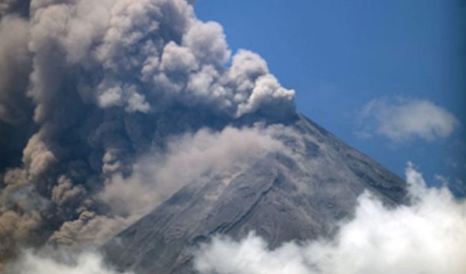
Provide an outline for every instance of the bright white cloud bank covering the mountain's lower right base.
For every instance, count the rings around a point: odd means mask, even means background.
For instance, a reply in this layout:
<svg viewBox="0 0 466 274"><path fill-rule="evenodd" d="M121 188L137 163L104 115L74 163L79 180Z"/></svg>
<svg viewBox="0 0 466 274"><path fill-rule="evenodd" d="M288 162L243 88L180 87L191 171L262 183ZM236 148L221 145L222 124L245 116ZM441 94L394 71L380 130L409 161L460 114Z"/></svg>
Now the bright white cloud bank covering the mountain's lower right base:
<svg viewBox="0 0 466 274"><path fill-rule="evenodd" d="M288 242L274 250L250 233L240 242L213 238L195 251L202 274L466 273L466 201L447 187L427 188L406 169L411 204L385 207L366 192L355 218L333 240Z"/></svg>

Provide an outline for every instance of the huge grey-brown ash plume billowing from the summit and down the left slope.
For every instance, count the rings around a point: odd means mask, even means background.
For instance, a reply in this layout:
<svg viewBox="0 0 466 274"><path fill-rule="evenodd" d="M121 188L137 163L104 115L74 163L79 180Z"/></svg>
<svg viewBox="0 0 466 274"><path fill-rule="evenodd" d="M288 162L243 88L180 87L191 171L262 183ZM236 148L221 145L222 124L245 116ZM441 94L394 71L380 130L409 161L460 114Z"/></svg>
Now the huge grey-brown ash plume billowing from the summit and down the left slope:
<svg viewBox="0 0 466 274"><path fill-rule="evenodd" d="M188 1L2 1L0 262L19 246L103 241L230 168L222 153L247 162L276 149L259 129L227 126L285 121L293 98L260 56L232 56L221 25ZM245 143L226 144L239 134ZM173 180L170 165L197 163L192 149L210 162ZM123 193L138 187L151 189L140 201Z"/></svg>

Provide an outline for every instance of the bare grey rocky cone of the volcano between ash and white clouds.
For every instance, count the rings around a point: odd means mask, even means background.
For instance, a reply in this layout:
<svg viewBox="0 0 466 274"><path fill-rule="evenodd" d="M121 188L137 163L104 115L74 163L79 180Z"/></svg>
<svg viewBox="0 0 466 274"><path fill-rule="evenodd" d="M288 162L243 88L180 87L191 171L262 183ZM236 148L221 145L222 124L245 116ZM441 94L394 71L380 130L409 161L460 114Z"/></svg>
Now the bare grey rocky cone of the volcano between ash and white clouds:
<svg viewBox="0 0 466 274"><path fill-rule="evenodd" d="M332 235L364 189L386 204L406 197L403 180L303 116L276 138L284 151L180 189L104 244L107 259L137 273L193 273L190 247L211 235L256 231L274 248Z"/></svg>

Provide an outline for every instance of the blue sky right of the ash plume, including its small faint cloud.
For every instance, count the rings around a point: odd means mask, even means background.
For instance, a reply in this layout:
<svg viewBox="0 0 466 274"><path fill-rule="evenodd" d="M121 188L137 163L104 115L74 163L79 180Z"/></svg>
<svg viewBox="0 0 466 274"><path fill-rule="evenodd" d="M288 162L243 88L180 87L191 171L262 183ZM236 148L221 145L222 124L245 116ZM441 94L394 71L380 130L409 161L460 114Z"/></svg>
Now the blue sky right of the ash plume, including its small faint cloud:
<svg viewBox="0 0 466 274"><path fill-rule="evenodd" d="M464 187L466 1L198 0L195 9L223 25L233 51L263 56L302 114L400 176L410 160L431 184L440 175ZM416 127L390 131L400 125Z"/></svg>

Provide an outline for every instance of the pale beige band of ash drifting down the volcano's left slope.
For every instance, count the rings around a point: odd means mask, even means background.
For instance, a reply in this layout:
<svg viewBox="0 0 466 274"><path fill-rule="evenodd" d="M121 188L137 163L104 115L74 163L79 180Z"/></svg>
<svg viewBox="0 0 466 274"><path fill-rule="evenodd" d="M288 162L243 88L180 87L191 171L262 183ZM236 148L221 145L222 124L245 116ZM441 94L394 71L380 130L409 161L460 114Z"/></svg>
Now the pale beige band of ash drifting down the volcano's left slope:
<svg viewBox="0 0 466 274"><path fill-rule="evenodd" d="M104 181L94 198L106 204L113 215L84 211L78 220L65 222L50 240L65 245L102 243L189 182L205 180L211 174L228 178L261 156L282 149L271 132L258 127L225 127L219 132L201 129L179 136L168 143L166 153L151 151L140 156L131 176L115 173Z"/></svg>

